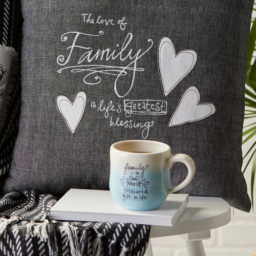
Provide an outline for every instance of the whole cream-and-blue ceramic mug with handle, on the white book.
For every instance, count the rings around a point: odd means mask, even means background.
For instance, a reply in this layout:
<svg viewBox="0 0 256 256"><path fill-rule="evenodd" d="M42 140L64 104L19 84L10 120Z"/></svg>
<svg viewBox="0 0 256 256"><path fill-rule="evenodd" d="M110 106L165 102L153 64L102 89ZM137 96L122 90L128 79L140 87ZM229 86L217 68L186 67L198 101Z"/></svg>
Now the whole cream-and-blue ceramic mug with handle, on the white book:
<svg viewBox="0 0 256 256"><path fill-rule="evenodd" d="M170 168L182 162L187 177L176 186L170 183ZM185 187L195 175L195 163L185 154L172 155L170 147L150 140L119 141L110 147L110 191L124 209L159 208L170 193Z"/></svg>

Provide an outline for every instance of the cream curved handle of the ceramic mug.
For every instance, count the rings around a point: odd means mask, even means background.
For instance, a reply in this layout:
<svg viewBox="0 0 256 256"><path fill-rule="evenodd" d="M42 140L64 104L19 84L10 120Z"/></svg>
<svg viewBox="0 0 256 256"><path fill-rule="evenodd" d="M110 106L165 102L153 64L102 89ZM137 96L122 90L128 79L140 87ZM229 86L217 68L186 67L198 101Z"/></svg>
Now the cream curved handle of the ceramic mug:
<svg viewBox="0 0 256 256"><path fill-rule="evenodd" d="M180 184L169 187L168 194L174 193L180 190L181 188L185 187L186 185L188 185L188 183L193 179L195 175L196 165L191 157L185 154L172 155L167 159L167 166L168 166L167 169L172 168L174 163L176 162L184 163L187 166L188 173L185 180L183 180Z"/></svg>

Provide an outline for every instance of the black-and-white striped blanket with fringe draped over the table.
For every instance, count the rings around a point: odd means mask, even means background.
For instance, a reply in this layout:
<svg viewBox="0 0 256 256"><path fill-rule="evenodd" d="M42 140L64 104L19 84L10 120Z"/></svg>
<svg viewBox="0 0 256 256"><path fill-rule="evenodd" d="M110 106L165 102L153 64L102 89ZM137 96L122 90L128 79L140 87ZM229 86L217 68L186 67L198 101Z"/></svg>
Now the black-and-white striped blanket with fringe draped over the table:
<svg viewBox="0 0 256 256"><path fill-rule="evenodd" d="M14 191L0 199L0 255L143 255L150 226L56 221L57 198ZM129 221L129 220L127 220Z"/></svg>

